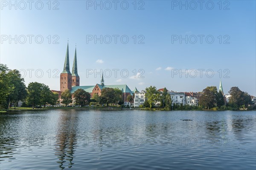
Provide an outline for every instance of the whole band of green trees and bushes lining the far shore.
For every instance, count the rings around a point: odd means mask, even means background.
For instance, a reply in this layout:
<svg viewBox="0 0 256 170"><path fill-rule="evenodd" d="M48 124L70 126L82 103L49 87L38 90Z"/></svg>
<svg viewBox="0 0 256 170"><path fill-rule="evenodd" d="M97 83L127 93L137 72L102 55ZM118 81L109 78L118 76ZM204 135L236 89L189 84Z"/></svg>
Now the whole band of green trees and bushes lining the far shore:
<svg viewBox="0 0 256 170"><path fill-rule="evenodd" d="M217 91L216 86L208 86L199 97L198 106L183 104L172 104L172 98L166 88L162 92L158 91L155 86L145 89L145 102L139 109L146 110L253 110L256 105L253 104L251 96L247 92L241 91L238 87L231 87L229 93L231 97L229 102L221 91ZM73 99L72 100L72 95ZM120 89L104 88L101 95L90 94L83 89L78 89L73 94L69 90L61 93L59 100L58 92L52 92L46 84L31 82L26 87L24 79L16 69L9 69L6 65L0 64L0 109L21 110L21 109L76 109L80 108L99 108L113 109L122 108L124 101ZM128 95L127 101L133 103L134 96ZM23 101L22 107L17 107L18 102ZM60 103L61 102L61 103ZM155 104L158 103L158 106ZM59 106L64 104L65 107L46 107ZM70 106L72 105L72 106ZM132 108L131 108L132 109ZM138 109L138 108L137 108Z"/></svg>

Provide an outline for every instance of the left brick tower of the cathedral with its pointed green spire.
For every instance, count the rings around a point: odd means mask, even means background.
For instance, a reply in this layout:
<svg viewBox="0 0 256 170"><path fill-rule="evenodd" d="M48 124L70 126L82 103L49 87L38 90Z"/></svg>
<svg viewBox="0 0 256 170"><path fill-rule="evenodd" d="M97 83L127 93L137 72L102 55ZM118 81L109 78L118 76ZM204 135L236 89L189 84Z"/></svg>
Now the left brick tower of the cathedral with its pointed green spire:
<svg viewBox="0 0 256 170"><path fill-rule="evenodd" d="M68 43L67 43L67 52L64 63L63 71L61 72L60 77L60 91L64 92L66 89L71 90L72 88L72 75L70 73L70 65L69 65L69 52L68 52Z"/></svg>

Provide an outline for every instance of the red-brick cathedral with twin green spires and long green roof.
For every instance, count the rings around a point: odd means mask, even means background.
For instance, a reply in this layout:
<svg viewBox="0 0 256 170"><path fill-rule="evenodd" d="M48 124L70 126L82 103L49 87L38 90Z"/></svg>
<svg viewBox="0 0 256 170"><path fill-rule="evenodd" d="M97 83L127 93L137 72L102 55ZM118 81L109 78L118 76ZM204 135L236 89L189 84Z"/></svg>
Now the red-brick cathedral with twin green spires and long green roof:
<svg viewBox="0 0 256 170"><path fill-rule="evenodd" d="M101 91L104 88L117 88L122 91L122 98L124 101L127 101L128 95L134 95L134 92L137 92L137 88L135 87L135 91L131 91L131 89L126 85L105 85L104 78L102 74L102 78L100 84L92 85L92 86L80 86L80 77L77 72L77 58L76 58L76 50L73 61L72 73L70 72L70 63L69 63L69 50L67 44L66 57L64 62L64 68L60 75L60 91L52 90L52 92L58 92L61 95L61 92L64 92L66 89L69 89L71 94L73 94L77 89L84 89L86 92L89 92L91 98L94 94L101 95Z"/></svg>

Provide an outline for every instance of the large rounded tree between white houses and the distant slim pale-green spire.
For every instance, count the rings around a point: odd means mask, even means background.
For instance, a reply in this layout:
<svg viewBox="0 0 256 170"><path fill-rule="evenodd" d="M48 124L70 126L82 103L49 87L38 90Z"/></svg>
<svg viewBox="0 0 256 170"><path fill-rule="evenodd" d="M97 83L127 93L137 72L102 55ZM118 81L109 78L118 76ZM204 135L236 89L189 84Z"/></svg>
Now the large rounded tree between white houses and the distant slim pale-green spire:
<svg viewBox="0 0 256 170"><path fill-rule="evenodd" d="M210 88L205 88L201 97L199 98L199 104L208 109L214 107L216 99L214 93L215 91L211 90Z"/></svg>

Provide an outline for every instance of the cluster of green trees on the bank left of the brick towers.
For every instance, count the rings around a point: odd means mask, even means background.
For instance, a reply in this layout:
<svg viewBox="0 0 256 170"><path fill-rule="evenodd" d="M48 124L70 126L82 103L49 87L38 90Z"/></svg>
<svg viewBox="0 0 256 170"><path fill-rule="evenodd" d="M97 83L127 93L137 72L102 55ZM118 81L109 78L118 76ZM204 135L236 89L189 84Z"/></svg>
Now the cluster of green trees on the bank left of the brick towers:
<svg viewBox="0 0 256 170"><path fill-rule="evenodd" d="M23 105L33 108L38 105L55 105L58 93L37 82L29 83L26 87L17 69L12 70L0 64L0 108L9 109L12 104L17 106L18 101L25 101Z"/></svg>

